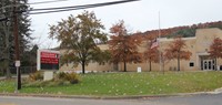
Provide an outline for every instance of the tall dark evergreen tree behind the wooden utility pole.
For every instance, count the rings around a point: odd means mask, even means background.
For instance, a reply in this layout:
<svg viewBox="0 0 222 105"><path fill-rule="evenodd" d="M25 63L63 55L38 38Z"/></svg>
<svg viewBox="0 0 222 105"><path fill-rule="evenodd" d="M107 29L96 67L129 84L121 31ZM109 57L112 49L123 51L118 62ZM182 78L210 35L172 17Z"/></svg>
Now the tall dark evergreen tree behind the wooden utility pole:
<svg viewBox="0 0 222 105"><path fill-rule="evenodd" d="M18 11L19 10L28 10L29 6L27 4L27 0L20 0L18 2ZM4 17L4 20L0 21L0 64L3 65L4 71L7 71L7 77L10 77L10 70L9 67L14 66L14 38L13 38L13 19L12 15L18 15L18 24L19 24L19 39L20 39L20 52L29 49L30 40L30 19L28 13L13 13L13 0L1 0L0 2L0 13L1 17Z"/></svg>

